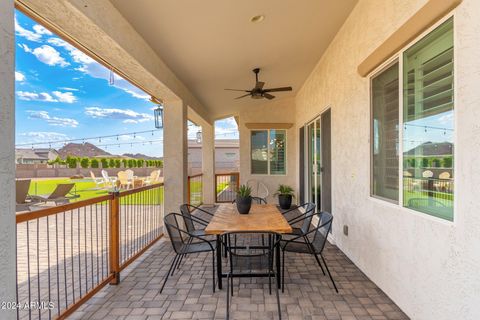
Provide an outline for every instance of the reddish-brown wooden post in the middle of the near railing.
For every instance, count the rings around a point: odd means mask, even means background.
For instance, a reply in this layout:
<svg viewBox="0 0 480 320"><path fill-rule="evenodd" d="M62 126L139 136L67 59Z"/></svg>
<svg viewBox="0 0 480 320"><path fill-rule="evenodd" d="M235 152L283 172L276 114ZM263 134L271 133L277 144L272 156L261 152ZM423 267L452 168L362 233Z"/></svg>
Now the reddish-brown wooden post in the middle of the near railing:
<svg viewBox="0 0 480 320"><path fill-rule="evenodd" d="M114 278L110 284L120 283L120 192L110 193L110 273Z"/></svg>

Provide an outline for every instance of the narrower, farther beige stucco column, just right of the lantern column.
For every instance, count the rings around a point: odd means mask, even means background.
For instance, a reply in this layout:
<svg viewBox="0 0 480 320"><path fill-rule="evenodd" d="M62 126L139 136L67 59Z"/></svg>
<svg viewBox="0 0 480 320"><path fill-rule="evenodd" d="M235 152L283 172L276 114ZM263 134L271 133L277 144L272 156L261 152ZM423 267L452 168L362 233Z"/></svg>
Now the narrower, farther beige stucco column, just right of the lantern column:
<svg viewBox="0 0 480 320"><path fill-rule="evenodd" d="M215 127L202 125L203 203L215 203Z"/></svg>

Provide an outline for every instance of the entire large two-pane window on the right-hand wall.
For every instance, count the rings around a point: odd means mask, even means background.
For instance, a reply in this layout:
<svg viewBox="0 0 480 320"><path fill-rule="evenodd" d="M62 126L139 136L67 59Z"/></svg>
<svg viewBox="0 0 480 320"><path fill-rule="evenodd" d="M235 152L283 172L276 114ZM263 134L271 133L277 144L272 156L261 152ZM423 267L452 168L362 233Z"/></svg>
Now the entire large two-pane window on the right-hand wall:
<svg viewBox="0 0 480 320"><path fill-rule="evenodd" d="M452 221L453 18L403 51L402 59L401 70L395 63L371 81L371 193L395 202L402 198L404 207Z"/></svg>

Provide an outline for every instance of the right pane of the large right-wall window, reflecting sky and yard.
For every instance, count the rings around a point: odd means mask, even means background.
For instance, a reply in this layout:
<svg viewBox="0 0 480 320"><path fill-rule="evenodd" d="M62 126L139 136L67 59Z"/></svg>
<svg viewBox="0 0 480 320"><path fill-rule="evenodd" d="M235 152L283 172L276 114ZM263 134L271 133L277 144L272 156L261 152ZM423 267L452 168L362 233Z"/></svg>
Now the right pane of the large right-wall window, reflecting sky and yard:
<svg viewBox="0 0 480 320"><path fill-rule="evenodd" d="M453 20L403 56L403 205L453 220Z"/></svg>

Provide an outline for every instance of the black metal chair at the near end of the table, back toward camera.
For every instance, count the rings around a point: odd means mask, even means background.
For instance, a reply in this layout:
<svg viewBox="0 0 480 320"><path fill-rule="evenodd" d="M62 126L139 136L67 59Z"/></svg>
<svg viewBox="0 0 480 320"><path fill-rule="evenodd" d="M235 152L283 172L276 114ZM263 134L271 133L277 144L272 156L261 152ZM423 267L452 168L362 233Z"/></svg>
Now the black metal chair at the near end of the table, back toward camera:
<svg viewBox="0 0 480 320"><path fill-rule="evenodd" d="M233 277L268 277L269 293L272 294L272 278L274 278L274 287L276 290L278 316L282 319L280 296L278 292L277 280L280 277L275 272L273 260L275 248L280 244L280 234L274 232L231 232L225 233L228 239L230 235L237 235L242 239L239 246L230 246L230 243L223 241L223 245L228 251L229 271L227 273L227 319L230 319L230 296L233 297ZM260 236L266 238L268 244L260 245ZM256 244L257 243L257 244Z"/></svg>

